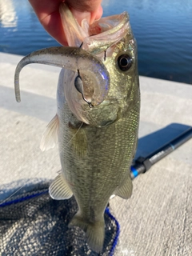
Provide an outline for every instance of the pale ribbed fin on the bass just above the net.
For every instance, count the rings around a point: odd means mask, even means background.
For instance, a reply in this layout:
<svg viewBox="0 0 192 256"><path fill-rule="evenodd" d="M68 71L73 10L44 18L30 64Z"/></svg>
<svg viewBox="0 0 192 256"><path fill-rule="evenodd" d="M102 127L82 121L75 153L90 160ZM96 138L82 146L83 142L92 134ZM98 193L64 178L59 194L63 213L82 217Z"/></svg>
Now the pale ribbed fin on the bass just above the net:
<svg viewBox="0 0 192 256"><path fill-rule="evenodd" d="M69 199L73 195L73 192L70 190L70 186L67 184L62 173L58 174L58 176L50 184L49 193L50 197L55 200Z"/></svg>

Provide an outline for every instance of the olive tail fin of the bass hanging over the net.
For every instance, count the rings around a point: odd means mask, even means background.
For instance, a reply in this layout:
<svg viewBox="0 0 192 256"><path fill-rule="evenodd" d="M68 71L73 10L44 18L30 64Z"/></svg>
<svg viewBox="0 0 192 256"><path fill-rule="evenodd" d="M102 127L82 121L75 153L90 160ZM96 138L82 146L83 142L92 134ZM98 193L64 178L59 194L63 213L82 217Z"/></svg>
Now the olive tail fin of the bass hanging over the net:
<svg viewBox="0 0 192 256"><path fill-rule="evenodd" d="M105 222L102 218L99 222L86 222L79 214L75 214L69 226L78 226L86 232L86 242L92 250L102 252L105 238Z"/></svg>

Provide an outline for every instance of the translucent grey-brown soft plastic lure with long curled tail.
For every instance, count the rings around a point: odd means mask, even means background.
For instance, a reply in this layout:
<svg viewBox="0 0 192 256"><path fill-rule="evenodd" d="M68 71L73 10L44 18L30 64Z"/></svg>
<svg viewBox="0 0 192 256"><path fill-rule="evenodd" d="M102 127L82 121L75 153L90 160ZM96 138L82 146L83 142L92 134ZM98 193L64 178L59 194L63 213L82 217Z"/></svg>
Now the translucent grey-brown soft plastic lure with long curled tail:
<svg viewBox="0 0 192 256"><path fill-rule="evenodd" d="M34 51L28 54L26 57L18 63L18 66L14 74L14 90L17 102L21 101L20 88L19 88L19 74L24 66L30 63L46 64L50 66L60 66L66 70L78 72L74 81L74 86L79 94L82 94L82 99L89 106L98 106L106 98L108 91L110 90L110 75L106 70L106 66L95 55L90 54L86 50L82 50L78 47L50 47L42 50ZM90 99L87 100L84 97L83 78L80 76L84 74L92 78L94 91L90 95ZM75 73L74 73L75 74ZM74 101L74 104L79 104L78 97L67 97L66 101L70 98ZM70 106L70 102L67 102Z"/></svg>

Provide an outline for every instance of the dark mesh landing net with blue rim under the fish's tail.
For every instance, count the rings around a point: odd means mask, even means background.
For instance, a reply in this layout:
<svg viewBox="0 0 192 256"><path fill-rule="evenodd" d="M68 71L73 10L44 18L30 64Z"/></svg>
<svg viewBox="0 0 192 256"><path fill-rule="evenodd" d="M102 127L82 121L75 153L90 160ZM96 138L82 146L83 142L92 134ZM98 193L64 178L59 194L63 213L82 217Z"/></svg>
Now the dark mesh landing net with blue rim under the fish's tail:
<svg viewBox="0 0 192 256"><path fill-rule="evenodd" d="M1 255L113 255L119 226L109 207L105 211L103 251L97 254L86 244L81 229L68 228L78 210L74 197L53 200L49 185L50 182L41 182L32 190L19 190L0 204Z"/></svg>

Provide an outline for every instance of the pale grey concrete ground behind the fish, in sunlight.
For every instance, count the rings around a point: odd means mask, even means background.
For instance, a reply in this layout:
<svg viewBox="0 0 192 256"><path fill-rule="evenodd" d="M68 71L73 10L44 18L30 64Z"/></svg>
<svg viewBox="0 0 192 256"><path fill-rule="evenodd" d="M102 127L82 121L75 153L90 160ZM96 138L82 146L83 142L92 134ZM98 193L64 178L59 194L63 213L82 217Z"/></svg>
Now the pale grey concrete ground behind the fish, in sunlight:
<svg viewBox="0 0 192 256"><path fill-rule="evenodd" d="M60 169L57 147L39 149L56 112L60 69L26 66L18 103L14 70L21 58L0 53L0 177L1 184L19 186L23 179L54 178ZM192 126L192 86L145 77L140 85L137 156L145 156ZM115 197L110 206L121 227L115 255L192 255L192 139L135 178L130 200Z"/></svg>

